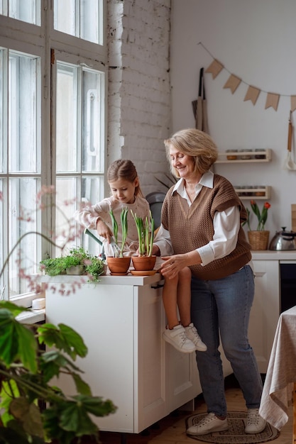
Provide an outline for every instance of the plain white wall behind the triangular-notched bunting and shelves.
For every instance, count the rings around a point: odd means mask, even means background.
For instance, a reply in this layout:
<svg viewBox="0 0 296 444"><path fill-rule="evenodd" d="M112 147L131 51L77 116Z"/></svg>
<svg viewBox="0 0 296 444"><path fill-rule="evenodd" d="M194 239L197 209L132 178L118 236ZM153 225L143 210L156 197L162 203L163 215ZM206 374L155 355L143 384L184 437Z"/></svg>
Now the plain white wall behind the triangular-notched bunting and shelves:
<svg viewBox="0 0 296 444"><path fill-rule="evenodd" d="M172 0L171 130L194 127L191 102L197 99L199 69L216 58L226 69L216 79L205 74L210 134L221 151L271 148L273 160L219 164L215 171L234 185L272 186L265 226L270 238L281 226L291 229L290 206L296 203L296 171L282 167L290 96L296 94L295 19L295 0ZM230 74L246 82L234 94L223 88ZM248 85L261 89L255 106L243 101ZM263 91L280 94L278 111L265 109ZM296 111L292 119L296 124ZM293 158L296 162L295 149Z"/></svg>

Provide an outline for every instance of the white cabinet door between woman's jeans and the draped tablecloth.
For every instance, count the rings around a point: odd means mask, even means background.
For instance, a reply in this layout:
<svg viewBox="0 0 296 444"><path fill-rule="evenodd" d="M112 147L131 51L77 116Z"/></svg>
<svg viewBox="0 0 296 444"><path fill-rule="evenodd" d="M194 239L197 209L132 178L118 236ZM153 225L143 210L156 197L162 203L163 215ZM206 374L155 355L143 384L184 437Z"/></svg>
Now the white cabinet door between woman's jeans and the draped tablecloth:
<svg viewBox="0 0 296 444"><path fill-rule="evenodd" d="M280 316L280 273L278 260L253 260L255 298L248 337L259 371L266 373L275 329Z"/></svg>

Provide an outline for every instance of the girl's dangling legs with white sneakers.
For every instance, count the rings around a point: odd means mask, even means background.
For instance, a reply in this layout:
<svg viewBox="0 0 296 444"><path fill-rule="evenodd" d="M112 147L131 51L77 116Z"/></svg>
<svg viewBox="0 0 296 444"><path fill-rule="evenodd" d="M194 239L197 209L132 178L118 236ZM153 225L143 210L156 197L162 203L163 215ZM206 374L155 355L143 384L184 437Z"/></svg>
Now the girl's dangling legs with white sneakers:
<svg viewBox="0 0 296 444"><path fill-rule="evenodd" d="M165 278L163 287L163 306L168 319L168 325L163 332L163 339L182 353L192 353L195 350L207 350L197 329L190 318L191 305L191 270L183 268L176 277ZM177 308L180 314L178 321Z"/></svg>

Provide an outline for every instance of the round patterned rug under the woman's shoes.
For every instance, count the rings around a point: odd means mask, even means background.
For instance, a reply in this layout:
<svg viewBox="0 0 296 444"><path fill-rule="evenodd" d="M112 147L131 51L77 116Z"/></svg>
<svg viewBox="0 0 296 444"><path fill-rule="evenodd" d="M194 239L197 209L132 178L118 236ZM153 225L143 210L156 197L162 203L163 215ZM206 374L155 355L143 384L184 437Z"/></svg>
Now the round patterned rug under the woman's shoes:
<svg viewBox="0 0 296 444"><path fill-rule="evenodd" d="M198 414L189 416L186 419L186 428L194 426L207 414ZM208 435L190 436L188 438L204 441L204 443L214 444L258 444L267 443L275 438L278 438L280 432L267 424L263 432L256 433L256 435L248 435L245 433L247 413L244 411L229 411L227 414L227 420L229 424L229 430L225 432L214 432Z"/></svg>

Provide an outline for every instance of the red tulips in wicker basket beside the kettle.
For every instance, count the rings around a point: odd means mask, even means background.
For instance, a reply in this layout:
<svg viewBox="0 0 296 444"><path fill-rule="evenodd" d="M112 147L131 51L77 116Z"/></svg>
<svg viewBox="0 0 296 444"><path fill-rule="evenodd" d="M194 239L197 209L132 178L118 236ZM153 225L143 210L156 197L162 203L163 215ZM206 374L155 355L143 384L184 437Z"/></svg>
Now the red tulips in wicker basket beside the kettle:
<svg viewBox="0 0 296 444"><path fill-rule="evenodd" d="M270 203L265 202L262 210L260 211L256 201L251 200L251 209L253 213L257 216L258 223L256 230L251 229L251 211L247 208L247 220L243 225L248 226L248 241L251 245L252 250L266 250L268 248L269 231L265 230L265 223L268 217L268 209L270 209Z"/></svg>

